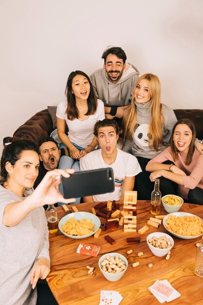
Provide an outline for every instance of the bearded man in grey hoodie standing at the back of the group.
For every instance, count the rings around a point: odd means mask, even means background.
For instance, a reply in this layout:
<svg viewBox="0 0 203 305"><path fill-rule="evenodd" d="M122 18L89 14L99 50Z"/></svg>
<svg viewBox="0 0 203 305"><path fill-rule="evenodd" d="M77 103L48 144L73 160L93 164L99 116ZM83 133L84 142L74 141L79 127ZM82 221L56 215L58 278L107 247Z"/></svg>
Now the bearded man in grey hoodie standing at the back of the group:
<svg viewBox="0 0 203 305"><path fill-rule="evenodd" d="M102 58L104 68L92 73L90 80L97 98L104 102L106 117L122 118L140 73L135 66L126 63L126 54L120 47L107 48Z"/></svg>

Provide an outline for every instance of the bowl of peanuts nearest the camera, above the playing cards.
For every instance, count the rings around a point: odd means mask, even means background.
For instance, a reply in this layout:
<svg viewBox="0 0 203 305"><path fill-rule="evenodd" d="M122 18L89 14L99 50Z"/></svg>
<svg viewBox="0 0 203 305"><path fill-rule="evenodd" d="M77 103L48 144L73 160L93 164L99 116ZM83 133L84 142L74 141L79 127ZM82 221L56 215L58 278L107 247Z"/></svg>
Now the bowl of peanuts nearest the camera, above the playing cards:
<svg viewBox="0 0 203 305"><path fill-rule="evenodd" d="M100 257L99 268L108 281L116 282L122 278L128 267L128 260L119 253L107 253Z"/></svg>

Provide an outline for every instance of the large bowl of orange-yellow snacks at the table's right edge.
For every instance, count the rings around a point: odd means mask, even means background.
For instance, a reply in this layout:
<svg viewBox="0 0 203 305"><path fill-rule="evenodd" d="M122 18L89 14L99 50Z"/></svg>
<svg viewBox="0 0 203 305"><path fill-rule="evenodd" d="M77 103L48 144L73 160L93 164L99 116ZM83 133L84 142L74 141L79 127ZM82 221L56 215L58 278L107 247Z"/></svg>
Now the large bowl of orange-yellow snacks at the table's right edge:
<svg viewBox="0 0 203 305"><path fill-rule="evenodd" d="M191 213L175 212L163 219L165 229L176 237L192 239L203 234L203 220Z"/></svg>

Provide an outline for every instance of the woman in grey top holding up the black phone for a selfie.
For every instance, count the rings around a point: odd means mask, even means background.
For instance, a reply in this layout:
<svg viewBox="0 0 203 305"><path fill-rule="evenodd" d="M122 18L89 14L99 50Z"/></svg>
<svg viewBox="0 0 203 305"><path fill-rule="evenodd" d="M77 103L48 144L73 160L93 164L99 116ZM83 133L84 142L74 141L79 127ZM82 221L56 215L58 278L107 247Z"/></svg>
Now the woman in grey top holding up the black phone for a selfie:
<svg viewBox="0 0 203 305"><path fill-rule="evenodd" d="M6 146L0 166L0 304L40 304L37 280L45 279L50 271L49 232L42 206L73 201L58 191L61 174L70 174L50 171L33 191L39 157L37 145L30 140Z"/></svg>

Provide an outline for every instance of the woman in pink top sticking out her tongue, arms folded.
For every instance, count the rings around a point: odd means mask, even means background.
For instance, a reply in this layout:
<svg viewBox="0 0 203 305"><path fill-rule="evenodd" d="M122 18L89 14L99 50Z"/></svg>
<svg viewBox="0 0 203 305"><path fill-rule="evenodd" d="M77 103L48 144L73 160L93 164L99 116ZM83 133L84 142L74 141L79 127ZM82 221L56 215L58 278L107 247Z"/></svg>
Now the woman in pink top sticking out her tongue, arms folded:
<svg viewBox="0 0 203 305"><path fill-rule="evenodd" d="M171 181L171 188L178 185L181 197L203 205L203 154L194 146L195 137L194 124L189 119L180 119L173 127L170 147L150 160L146 171L151 172L151 181L164 177ZM175 194L171 188L163 192Z"/></svg>

